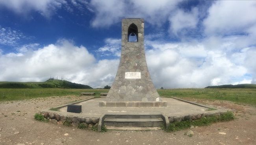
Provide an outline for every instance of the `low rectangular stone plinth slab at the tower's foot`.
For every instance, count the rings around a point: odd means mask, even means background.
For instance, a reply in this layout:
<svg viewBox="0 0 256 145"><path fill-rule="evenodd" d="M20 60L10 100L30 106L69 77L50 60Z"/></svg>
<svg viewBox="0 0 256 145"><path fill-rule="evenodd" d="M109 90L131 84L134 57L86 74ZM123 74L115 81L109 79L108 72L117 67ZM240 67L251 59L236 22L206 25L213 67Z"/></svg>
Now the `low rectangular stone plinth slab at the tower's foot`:
<svg viewBox="0 0 256 145"><path fill-rule="evenodd" d="M167 101L102 101L100 107L166 107Z"/></svg>

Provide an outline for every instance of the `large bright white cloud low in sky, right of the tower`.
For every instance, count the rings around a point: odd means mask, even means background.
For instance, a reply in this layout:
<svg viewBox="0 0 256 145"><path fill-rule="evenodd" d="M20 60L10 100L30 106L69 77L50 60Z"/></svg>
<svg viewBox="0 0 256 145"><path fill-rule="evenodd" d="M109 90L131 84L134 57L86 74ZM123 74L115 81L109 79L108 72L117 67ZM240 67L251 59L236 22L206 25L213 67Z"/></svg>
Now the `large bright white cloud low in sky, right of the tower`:
<svg viewBox="0 0 256 145"><path fill-rule="evenodd" d="M224 51L207 50L202 43L153 43L152 47L146 58L157 88L231 84L249 73L244 64L235 64Z"/></svg>

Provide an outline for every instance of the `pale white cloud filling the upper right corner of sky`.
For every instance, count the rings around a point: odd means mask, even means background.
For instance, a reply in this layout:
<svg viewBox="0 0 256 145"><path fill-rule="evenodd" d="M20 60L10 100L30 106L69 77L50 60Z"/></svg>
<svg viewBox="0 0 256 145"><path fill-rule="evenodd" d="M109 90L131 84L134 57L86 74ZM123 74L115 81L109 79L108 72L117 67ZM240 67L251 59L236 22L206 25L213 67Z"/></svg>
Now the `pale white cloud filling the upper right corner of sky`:
<svg viewBox="0 0 256 145"><path fill-rule="evenodd" d="M216 1L209 8L209 15L203 22L205 32L208 35L254 33L256 25L255 12L256 2L253 0Z"/></svg>

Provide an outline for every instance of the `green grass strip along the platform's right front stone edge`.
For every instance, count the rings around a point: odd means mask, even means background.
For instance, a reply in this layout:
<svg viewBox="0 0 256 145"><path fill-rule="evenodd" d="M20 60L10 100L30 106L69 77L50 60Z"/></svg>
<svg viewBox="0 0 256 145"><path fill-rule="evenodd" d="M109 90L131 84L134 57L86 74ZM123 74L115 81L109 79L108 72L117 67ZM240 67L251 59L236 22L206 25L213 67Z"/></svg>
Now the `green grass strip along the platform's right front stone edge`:
<svg viewBox="0 0 256 145"><path fill-rule="evenodd" d="M182 130L186 128L190 128L191 125L194 126L207 126L215 122L223 122L223 121L230 121L234 119L234 114L231 111L228 111L220 116L209 116L209 117L202 117L201 119L197 120L187 120L181 122L173 122L170 123L169 128L166 130L167 132Z"/></svg>

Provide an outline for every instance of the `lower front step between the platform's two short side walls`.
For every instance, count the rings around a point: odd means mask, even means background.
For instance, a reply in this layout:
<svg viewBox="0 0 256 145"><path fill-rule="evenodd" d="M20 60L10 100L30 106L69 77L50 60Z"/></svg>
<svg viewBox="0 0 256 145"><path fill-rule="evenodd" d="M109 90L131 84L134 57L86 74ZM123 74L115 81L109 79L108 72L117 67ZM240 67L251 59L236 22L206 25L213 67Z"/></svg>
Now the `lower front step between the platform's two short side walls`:
<svg viewBox="0 0 256 145"><path fill-rule="evenodd" d="M104 125L113 127L161 127L161 118L105 118Z"/></svg>

